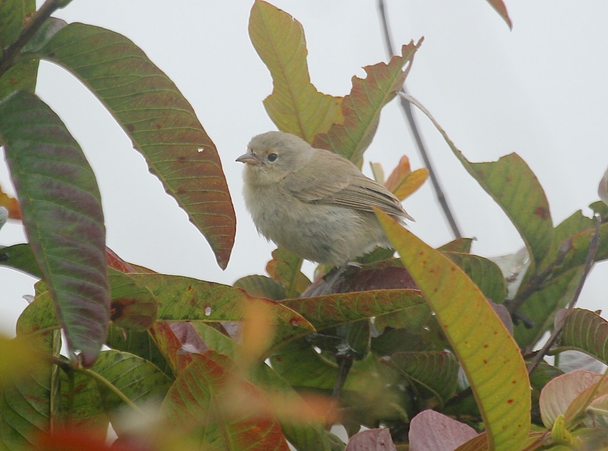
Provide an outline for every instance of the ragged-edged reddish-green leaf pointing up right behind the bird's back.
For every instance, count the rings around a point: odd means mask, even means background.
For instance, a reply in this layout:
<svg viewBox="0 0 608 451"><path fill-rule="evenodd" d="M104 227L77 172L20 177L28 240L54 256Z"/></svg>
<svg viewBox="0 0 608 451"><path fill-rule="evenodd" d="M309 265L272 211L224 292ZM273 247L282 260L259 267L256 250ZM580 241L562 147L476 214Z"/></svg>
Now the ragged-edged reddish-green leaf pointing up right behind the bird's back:
<svg viewBox="0 0 608 451"><path fill-rule="evenodd" d="M376 134L380 111L402 88L420 44L422 40L402 46L401 56L392 57L389 64L364 67L366 78L353 77L353 88L342 102L344 123L334 123L328 133L317 135L313 146L334 151L361 167L363 153Z"/></svg>

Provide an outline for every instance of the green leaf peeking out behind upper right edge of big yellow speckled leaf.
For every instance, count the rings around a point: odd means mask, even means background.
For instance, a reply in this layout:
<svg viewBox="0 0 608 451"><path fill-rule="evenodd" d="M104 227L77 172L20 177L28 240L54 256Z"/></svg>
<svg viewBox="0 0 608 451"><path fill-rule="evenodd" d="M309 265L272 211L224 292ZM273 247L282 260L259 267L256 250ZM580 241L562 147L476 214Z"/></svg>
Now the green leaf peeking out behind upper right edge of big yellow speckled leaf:
<svg viewBox="0 0 608 451"><path fill-rule="evenodd" d="M496 263L470 253L444 252L443 254L460 266L486 298L499 304L505 300L505 278Z"/></svg>

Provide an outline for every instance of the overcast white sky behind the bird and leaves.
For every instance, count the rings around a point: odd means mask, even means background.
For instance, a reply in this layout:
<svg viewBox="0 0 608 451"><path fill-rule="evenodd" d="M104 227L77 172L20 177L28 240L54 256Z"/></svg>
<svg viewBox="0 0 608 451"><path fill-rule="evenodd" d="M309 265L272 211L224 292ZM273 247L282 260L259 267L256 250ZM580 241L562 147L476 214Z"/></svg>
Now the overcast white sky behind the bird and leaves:
<svg viewBox="0 0 608 451"><path fill-rule="evenodd" d="M387 0L396 46L425 41L407 79L410 93L441 123L472 161L517 152L545 188L554 222L578 209L589 215L608 167L608 2L505 0L510 31L484 0ZM298 19L308 43L311 80L319 91L345 95L361 67L385 60L376 1L274 0ZM55 14L122 33L140 46L192 103L215 142L237 211L237 239L225 271L206 240L165 195L142 157L103 107L60 67L41 64L38 95L63 119L97 175L108 246L125 260L167 274L232 284L265 274L274 247L257 235L241 197L235 158L250 137L274 125L262 100L271 78L247 35L250 0L74 0ZM473 251L516 252L522 241L499 207L466 173L432 126L418 115L432 159ZM396 103L381 117L366 154L385 172L407 154L421 167ZM0 184L9 188L5 167ZM12 188L10 188L12 189ZM429 186L405 202L411 230L432 246L452 239ZM24 241L10 222L0 243ZM310 270L311 267L308 267ZM579 306L604 309L608 264L592 272ZM0 331L14 333L21 299L33 280L0 268Z"/></svg>

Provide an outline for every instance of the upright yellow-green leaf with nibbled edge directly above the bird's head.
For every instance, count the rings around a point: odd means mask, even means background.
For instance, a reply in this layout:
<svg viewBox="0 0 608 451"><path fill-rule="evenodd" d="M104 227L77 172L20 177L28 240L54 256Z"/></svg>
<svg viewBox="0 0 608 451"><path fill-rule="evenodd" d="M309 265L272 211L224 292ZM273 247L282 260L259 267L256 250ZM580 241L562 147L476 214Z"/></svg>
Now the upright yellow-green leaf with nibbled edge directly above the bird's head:
<svg viewBox="0 0 608 451"><path fill-rule="evenodd" d="M264 107L279 130L311 143L334 122L342 123L342 98L321 94L310 82L300 22L256 0L249 18L249 37L272 75L272 94L264 100Z"/></svg>

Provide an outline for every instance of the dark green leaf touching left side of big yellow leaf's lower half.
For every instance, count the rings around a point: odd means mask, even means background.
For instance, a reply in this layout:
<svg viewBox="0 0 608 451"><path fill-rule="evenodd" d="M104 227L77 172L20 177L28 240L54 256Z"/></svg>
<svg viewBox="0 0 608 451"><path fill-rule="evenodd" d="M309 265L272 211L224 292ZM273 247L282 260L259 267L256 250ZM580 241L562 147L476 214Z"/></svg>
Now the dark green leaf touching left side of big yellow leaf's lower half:
<svg viewBox="0 0 608 451"><path fill-rule="evenodd" d="M446 351L395 353L380 360L432 391L444 404L458 385L458 360Z"/></svg>

